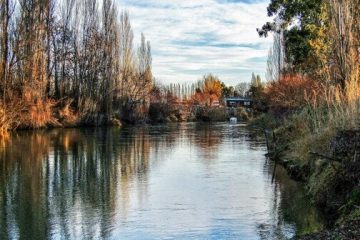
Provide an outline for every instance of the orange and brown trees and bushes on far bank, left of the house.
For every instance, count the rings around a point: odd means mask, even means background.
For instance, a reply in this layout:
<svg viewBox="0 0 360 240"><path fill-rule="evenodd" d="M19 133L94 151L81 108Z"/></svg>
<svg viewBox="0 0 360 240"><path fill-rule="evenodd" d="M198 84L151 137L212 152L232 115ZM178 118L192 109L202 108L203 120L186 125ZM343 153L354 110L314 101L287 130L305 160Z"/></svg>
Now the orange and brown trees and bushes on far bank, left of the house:
<svg viewBox="0 0 360 240"><path fill-rule="evenodd" d="M152 122L226 121L222 104L224 83L212 74L191 85L155 85L151 92L149 118Z"/></svg>

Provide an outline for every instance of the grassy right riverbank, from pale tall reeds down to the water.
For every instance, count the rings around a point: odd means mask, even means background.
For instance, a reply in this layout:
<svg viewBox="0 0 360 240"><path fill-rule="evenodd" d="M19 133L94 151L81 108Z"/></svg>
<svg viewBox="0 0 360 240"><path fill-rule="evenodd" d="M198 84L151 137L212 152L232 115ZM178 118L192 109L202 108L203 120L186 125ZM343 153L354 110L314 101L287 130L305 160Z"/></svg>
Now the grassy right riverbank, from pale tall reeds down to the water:
<svg viewBox="0 0 360 240"><path fill-rule="evenodd" d="M359 99L359 84L345 91L328 88L305 106L270 111L252 121L274 131L273 156L291 177L306 183L330 226L360 219Z"/></svg>

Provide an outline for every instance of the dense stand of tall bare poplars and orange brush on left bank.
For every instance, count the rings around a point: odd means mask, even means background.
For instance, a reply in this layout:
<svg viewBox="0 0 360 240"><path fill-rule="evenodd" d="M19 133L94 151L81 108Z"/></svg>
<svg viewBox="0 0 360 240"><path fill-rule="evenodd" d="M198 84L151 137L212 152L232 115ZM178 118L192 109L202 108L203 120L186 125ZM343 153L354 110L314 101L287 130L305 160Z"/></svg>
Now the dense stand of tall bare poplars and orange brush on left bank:
<svg viewBox="0 0 360 240"><path fill-rule="evenodd" d="M2 135L146 111L150 43L142 35L134 49L128 13L114 1L1 0L0 10Z"/></svg>

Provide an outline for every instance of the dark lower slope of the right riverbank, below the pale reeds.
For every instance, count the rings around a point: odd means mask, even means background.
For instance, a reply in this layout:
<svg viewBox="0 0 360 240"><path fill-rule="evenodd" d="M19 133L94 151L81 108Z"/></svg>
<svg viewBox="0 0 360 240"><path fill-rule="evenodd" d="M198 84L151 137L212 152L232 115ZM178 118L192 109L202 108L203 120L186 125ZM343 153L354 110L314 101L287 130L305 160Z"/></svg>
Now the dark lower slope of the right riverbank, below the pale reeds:
<svg viewBox="0 0 360 240"><path fill-rule="evenodd" d="M283 165L290 177L305 183L307 194L327 216L330 230L303 239L328 239L322 236L343 236L346 229L360 227L360 130L350 123L334 127L326 120L329 113L322 116L326 127L311 128L311 114L312 109L267 113L250 125L272 129L269 156ZM354 239L351 232L341 239ZM360 236L356 231L354 234Z"/></svg>

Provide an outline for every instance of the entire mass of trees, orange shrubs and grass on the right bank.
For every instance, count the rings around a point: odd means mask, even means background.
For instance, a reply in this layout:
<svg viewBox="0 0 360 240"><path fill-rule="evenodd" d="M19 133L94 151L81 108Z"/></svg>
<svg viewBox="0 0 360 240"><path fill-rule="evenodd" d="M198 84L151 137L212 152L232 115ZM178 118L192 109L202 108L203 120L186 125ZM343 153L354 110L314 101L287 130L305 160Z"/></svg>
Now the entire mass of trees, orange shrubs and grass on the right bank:
<svg viewBox="0 0 360 240"><path fill-rule="evenodd" d="M319 6L289 1L284 8L284 1L275 2L268 10L281 13L284 26L293 10L304 16L301 29L279 30L268 23L259 30L277 36L264 94L278 121L273 126L282 155L301 166L318 205L335 219L354 220L360 211L360 1L322 0Z"/></svg>

